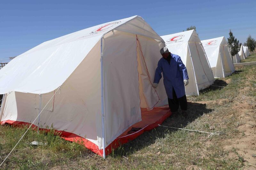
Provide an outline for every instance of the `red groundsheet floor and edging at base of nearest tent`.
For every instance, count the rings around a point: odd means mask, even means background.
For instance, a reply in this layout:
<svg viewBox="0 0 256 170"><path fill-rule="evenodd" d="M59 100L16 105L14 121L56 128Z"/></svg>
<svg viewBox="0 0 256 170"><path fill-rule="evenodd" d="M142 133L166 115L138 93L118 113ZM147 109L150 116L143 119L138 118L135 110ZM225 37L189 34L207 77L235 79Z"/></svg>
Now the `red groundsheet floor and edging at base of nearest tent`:
<svg viewBox="0 0 256 170"><path fill-rule="evenodd" d="M153 110L147 110L147 109L141 109L141 118L142 121L133 124L130 128L128 128L123 134L121 134L119 137L117 137L111 144L109 144L106 147L106 155L112 152L113 149L116 149L122 144L125 144L136 137L143 134L145 131L152 130L156 127L158 127L158 124L162 124L166 118L168 118L172 113L170 112L169 107L156 107ZM21 125L30 125L31 123L27 122L19 122L19 121L12 121L12 120L6 120L0 122L1 124L10 124L15 126L21 126ZM32 125L33 129L36 129L36 125ZM141 128L138 131L135 131L131 134L128 134L128 132L132 128ZM50 129L44 129L39 128L43 131L49 131ZM65 131L55 130L55 133L60 134L61 137L65 140L71 141L71 142L77 142L84 144L86 148L91 150L94 153L99 154L100 156L103 156L103 149L99 149L99 147L92 143L91 141L85 139L84 137L80 137L74 133L69 133Z"/></svg>

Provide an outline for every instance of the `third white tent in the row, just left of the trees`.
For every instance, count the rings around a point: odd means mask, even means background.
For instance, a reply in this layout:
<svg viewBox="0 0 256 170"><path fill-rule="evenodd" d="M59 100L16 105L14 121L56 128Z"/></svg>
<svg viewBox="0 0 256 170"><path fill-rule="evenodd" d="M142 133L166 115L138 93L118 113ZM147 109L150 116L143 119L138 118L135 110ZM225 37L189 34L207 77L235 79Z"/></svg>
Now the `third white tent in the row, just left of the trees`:
<svg viewBox="0 0 256 170"><path fill-rule="evenodd" d="M235 71L225 37L201 41L214 77L224 78Z"/></svg>

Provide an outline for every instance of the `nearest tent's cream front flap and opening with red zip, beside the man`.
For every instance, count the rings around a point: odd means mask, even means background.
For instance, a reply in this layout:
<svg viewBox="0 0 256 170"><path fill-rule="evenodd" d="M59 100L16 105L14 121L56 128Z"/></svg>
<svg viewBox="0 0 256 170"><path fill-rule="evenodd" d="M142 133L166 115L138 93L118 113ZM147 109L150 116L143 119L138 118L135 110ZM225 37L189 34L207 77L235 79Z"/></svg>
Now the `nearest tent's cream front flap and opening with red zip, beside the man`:
<svg viewBox="0 0 256 170"><path fill-rule="evenodd" d="M145 100L150 100L147 102L147 107L141 107L151 109L154 106L161 107L168 105L163 78L160 80L156 89L154 89L152 86L152 83L154 82L157 63L162 57L159 52L159 45L162 45L162 47L164 47L164 44L159 44L157 41L151 38L140 35L137 35L137 39L137 55L139 60L138 63L140 63L139 66L143 70L142 72L139 72L140 80L142 80L141 82L143 82L142 84L140 84L140 87L143 87L143 98L145 98ZM141 98L142 96L140 97L140 99Z"/></svg>

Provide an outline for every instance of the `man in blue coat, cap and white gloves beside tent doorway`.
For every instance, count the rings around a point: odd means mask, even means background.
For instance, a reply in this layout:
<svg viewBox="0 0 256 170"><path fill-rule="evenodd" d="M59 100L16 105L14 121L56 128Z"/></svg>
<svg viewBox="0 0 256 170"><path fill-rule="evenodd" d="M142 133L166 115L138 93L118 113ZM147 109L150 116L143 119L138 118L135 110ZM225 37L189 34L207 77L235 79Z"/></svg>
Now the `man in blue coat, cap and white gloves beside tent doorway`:
<svg viewBox="0 0 256 170"><path fill-rule="evenodd" d="M164 87L172 113L176 114L180 106L182 114L187 116L188 104L185 94L185 86L188 85L187 69L180 56L171 54L167 47L161 48L160 53L163 58L158 61L153 87L157 87L163 72Z"/></svg>

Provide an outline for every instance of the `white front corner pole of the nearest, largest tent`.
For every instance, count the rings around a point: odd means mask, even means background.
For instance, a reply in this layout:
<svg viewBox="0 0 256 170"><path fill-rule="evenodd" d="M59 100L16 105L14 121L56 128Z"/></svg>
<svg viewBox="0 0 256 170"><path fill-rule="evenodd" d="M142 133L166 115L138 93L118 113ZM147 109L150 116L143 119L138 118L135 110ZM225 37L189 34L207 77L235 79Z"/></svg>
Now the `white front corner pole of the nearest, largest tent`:
<svg viewBox="0 0 256 170"><path fill-rule="evenodd" d="M103 50L102 50L102 39L100 39L100 77L101 77L101 121L102 121L102 147L103 147L103 158L106 158L105 153L105 123L104 123L104 98L103 98Z"/></svg>

